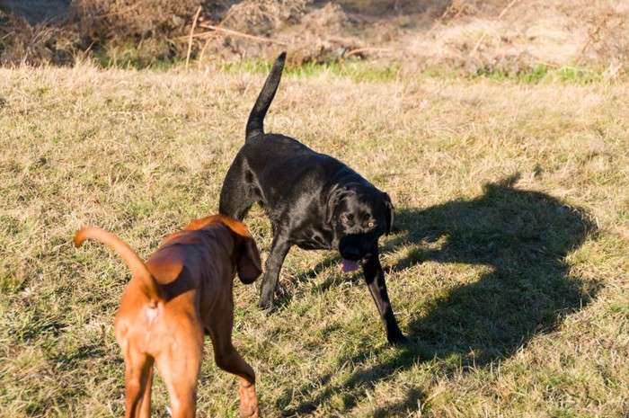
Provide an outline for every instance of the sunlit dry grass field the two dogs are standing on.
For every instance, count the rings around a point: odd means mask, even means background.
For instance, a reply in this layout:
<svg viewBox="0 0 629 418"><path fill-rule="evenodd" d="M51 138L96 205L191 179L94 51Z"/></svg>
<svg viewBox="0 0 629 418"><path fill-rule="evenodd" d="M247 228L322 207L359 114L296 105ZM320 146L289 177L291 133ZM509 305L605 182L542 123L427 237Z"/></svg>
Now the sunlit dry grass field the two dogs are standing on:
<svg viewBox="0 0 629 418"><path fill-rule="evenodd" d="M0 69L0 416L120 416L112 320L128 269L217 212L260 71ZM285 76L267 130L394 201L385 343L361 274L291 250L282 294L235 284L235 345L264 416L629 415L629 84ZM261 248L270 223L245 218ZM206 343L199 416L236 416ZM159 379L154 415L168 399Z"/></svg>

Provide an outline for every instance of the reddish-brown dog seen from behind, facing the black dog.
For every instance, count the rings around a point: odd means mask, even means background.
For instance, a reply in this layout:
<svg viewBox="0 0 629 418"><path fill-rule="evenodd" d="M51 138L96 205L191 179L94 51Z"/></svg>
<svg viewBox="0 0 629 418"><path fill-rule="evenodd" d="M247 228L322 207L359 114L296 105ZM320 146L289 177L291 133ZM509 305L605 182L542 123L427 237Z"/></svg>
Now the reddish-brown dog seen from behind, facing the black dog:
<svg viewBox="0 0 629 418"><path fill-rule="evenodd" d="M194 416L208 334L217 366L240 377L240 414L257 417L255 374L232 345L235 271L244 283L261 274L258 248L244 224L220 215L194 220L168 236L146 263L100 228L79 231L76 247L87 238L119 253L133 275L114 322L125 358L125 416L150 415L154 361L168 388L172 416Z"/></svg>

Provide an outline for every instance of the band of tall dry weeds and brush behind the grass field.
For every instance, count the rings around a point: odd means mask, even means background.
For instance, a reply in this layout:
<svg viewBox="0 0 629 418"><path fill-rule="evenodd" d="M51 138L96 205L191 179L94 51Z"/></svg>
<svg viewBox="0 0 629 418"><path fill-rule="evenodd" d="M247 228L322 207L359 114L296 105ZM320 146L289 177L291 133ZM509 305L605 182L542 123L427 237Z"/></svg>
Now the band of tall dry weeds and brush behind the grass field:
<svg viewBox="0 0 629 418"><path fill-rule="evenodd" d="M358 56L360 50L363 57L407 62L413 71L445 67L467 75L512 75L540 64L626 71L629 3L73 0L66 18L35 26L0 14L4 64L64 63L86 51L101 62L138 67L184 58L202 64L270 58L279 48L288 49L297 65Z"/></svg>

